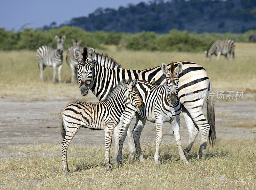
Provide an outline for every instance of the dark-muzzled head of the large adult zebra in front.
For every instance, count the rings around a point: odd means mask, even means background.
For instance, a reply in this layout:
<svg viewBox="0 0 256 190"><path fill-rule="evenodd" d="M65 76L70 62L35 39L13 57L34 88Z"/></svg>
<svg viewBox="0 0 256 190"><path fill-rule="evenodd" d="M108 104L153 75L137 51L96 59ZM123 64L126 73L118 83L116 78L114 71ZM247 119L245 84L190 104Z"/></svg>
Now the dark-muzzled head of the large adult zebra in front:
<svg viewBox="0 0 256 190"><path fill-rule="evenodd" d="M78 60L77 64L77 77L79 80L80 93L83 96L88 94L88 85L92 82L92 59L94 58L95 52L93 48L88 49L84 47L84 51L81 55L79 49L74 49L74 56Z"/></svg>

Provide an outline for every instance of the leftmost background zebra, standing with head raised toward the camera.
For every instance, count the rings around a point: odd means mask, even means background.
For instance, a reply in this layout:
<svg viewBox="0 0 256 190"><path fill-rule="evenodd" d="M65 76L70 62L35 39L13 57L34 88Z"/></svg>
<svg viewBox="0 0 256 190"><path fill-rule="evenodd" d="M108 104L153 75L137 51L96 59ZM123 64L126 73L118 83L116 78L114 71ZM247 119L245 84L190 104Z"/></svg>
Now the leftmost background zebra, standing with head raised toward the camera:
<svg viewBox="0 0 256 190"><path fill-rule="evenodd" d="M55 39L57 41L56 49L53 49L50 46L41 46L36 50L36 58L38 60L41 82L44 82L43 70L46 66L53 67L52 82L55 82L56 67L58 66L58 81L61 82L60 70L62 67L62 52L64 49L64 41L66 39L66 36L62 36L62 38L60 39L59 36L56 35Z"/></svg>

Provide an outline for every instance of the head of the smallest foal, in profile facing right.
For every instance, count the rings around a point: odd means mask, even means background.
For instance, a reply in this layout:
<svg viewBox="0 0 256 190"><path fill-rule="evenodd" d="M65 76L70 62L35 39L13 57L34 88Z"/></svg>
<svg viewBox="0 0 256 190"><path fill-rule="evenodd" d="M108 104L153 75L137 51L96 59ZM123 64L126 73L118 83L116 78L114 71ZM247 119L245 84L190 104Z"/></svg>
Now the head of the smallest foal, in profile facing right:
<svg viewBox="0 0 256 190"><path fill-rule="evenodd" d="M137 87L135 86L136 80L133 80L128 83L128 97L129 103L133 106L136 106L139 110L145 108L145 103L141 100Z"/></svg>

